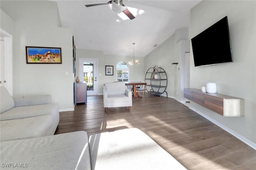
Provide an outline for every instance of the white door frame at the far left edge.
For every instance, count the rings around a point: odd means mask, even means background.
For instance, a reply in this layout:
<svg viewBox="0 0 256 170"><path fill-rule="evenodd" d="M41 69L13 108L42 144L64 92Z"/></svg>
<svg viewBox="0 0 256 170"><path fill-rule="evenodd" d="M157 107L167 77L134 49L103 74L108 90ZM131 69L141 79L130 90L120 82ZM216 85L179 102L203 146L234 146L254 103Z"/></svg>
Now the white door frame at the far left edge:
<svg viewBox="0 0 256 170"><path fill-rule="evenodd" d="M4 83L3 86L13 95L12 80L12 35L0 28L1 37L4 38ZM2 82L4 81L2 80Z"/></svg>

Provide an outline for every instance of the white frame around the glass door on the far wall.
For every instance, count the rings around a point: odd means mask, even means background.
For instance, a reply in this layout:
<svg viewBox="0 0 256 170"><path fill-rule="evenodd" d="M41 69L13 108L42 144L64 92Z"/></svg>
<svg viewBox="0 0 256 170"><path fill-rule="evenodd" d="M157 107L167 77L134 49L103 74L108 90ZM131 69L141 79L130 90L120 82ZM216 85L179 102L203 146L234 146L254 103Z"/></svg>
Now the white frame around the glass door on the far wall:
<svg viewBox="0 0 256 170"><path fill-rule="evenodd" d="M79 79L84 78L84 62L94 63L93 67L93 91L87 91L87 96L98 95L98 59L95 58L79 58ZM96 66L95 66L96 63Z"/></svg>

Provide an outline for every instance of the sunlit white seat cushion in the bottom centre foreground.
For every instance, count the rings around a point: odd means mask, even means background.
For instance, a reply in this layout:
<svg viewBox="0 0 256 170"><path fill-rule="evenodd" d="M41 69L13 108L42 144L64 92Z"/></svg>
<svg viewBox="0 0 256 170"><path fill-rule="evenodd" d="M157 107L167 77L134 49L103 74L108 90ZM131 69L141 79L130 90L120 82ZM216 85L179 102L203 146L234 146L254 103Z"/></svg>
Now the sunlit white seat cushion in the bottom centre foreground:
<svg viewBox="0 0 256 170"><path fill-rule="evenodd" d="M93 170L186 170L136 128L94 134L89 148Z"/></svg>

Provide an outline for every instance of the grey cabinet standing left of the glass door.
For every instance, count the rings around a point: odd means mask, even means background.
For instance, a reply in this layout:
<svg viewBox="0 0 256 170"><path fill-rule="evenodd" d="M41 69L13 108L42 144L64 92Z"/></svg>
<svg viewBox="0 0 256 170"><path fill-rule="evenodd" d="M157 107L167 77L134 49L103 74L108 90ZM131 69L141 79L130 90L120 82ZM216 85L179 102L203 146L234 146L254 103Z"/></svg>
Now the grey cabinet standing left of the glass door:
<svg viewBox="0 0 256 170"><path fill-rule="evenodd" d="M86 83L74 83L74 104L87 104L87 86Z"/></svg>

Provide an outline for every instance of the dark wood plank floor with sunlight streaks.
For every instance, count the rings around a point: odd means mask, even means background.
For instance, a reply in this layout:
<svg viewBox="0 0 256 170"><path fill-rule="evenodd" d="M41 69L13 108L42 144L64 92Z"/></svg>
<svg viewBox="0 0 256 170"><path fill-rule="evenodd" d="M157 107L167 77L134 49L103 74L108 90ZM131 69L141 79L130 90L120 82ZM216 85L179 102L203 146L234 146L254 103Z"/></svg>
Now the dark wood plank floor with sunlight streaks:
<svg viewBox="0 0 256 170"><path fill-rule="evenodd" d="M103 96L60 112L55 134L84 130L91 134L139 128L188 170L255 170L256 150L172 98L148 95L132 108L103 107Z"/></svg>

